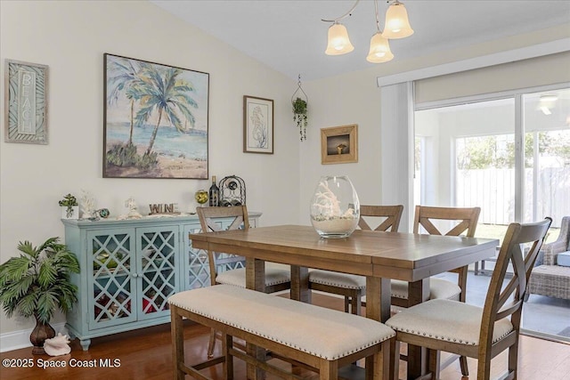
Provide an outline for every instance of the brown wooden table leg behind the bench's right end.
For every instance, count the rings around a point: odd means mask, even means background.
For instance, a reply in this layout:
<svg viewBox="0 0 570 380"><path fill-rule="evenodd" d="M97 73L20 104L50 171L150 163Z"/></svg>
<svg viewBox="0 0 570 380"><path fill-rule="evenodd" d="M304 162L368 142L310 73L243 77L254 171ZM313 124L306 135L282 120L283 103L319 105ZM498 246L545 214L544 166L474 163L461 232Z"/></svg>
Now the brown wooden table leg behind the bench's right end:
<svg viewBox="0 0 570 380"><path fill-rule="evenodd" d="M381 279L379 277L366 278L366 318L380 320L386 322L390 318L390 279ZM385 368L386 368L386 363ZM376 363L378 366L378 363ZM393 360L390 360L388 366L393 370ZM374 358L368 357L365 360L366 380L374 378L371 370L374 368Z"/></svg>

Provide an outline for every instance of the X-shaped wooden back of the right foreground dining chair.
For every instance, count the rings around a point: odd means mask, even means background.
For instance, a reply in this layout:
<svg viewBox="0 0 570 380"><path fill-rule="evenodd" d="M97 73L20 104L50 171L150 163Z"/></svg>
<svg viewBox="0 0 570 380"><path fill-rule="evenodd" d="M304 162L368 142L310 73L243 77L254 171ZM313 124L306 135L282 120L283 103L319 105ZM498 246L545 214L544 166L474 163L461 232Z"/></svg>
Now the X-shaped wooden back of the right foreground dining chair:
<svg viewBox="0 0 570 380"><path fill-rule="evenodd" d="M547 217L542 222L509 224L485 299L479 336L480 354L483 350L490 352L494 323L497 320L510 316L513 328L516 331L520 328L526 284L551 222L552 219ZM528 247L529 245L531 247ZM509 264L512 266L513 276L507 285L503 286Z"/></svg>

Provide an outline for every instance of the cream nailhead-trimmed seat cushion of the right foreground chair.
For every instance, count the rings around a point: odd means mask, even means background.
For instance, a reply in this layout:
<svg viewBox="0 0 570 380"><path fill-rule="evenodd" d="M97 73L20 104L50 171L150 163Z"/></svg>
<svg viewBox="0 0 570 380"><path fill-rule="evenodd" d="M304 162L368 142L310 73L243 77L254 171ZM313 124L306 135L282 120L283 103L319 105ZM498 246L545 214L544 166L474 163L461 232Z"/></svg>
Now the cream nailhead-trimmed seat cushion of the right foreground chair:
<svg viewBox="0 0 570 380"><path fill-rule="evenodd" d="M450 300L431 300L404 309L386 324L396 331L459 344L479 344L483 308ZM509 319L495 322L493 343L513 330Z"/></svg>

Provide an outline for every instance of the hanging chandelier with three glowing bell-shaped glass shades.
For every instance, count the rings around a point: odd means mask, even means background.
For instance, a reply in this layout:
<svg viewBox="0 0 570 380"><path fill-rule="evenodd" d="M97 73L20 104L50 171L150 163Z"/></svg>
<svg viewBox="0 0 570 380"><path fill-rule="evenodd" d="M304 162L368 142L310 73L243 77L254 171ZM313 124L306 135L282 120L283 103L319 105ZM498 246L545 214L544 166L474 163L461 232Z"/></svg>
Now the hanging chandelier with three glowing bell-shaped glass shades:
<svg viewBox="0 0 570 380"><path fill-rule="evenodd" d="M352 15L354 8L360 0L356 0L353 7L334 20L322 20L325 22L332 22L329 28L329 40L327 50L324 53L328 55L341 55L350 53L354 50L348 38L348 31L346 27L341 24L340 20ZM371 37L371 47L366 57L366 61L372 63L381 63L391 61L394 54L390 51L390 44L388 39L404 38L411 36L413 30L408 20L408 12L406 8L398 0L388 1L390 4L386 12L386 21L384 23L384 31L380 32L379 15L378 15L378 0L374 0L374 11L376 14L376 33Z"/></svg>

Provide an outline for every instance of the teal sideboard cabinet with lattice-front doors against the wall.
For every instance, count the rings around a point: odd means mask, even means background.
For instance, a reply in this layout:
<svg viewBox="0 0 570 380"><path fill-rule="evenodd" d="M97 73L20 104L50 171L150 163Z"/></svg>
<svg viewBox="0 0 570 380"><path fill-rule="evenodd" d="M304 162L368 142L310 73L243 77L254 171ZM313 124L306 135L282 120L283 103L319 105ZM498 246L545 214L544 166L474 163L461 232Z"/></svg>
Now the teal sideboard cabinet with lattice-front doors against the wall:
<svg viewBox="0 0 570 380"><path fill-rule="evenodd" d="M260 215L249 214L252 226ZM189 239L197 216L61 222L81 266L66 326L85 351L93 337L169 322L170 295L210 285L208 255Z"/></svg>

